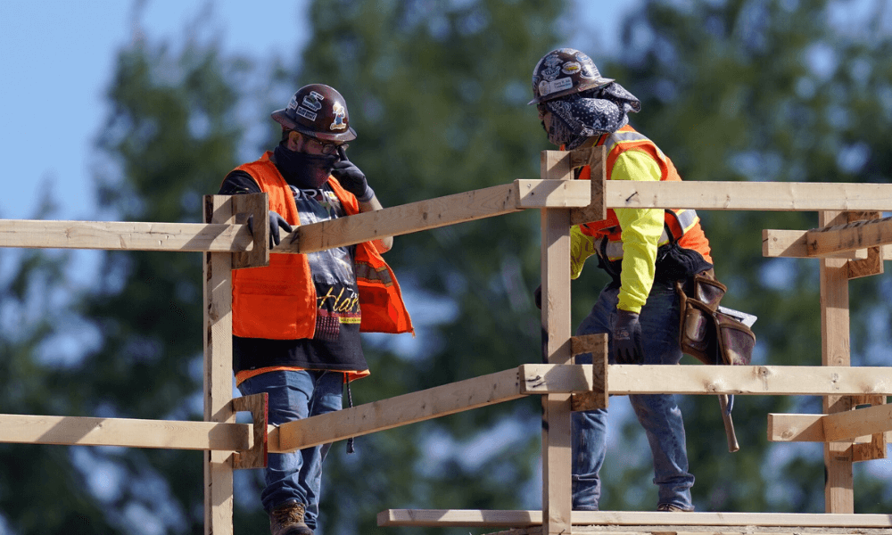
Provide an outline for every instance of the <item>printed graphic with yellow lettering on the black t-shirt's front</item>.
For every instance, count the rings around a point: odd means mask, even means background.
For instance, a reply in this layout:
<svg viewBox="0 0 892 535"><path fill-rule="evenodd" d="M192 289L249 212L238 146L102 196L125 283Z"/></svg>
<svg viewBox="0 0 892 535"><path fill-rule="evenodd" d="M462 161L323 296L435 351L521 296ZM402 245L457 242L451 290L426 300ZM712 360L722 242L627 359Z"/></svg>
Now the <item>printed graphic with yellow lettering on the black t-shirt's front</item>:
<svg viewBox="0 0 892 535"><path fill-rule="evenodd" d="M345 215L341 202L330 189L298 189L291 186L301 225L311 225ZM335 247L307 255L316 285L318 305L316 334L321 340L337 340L342 329L359 332L359 289L353 268L356 246Z"/></svg>

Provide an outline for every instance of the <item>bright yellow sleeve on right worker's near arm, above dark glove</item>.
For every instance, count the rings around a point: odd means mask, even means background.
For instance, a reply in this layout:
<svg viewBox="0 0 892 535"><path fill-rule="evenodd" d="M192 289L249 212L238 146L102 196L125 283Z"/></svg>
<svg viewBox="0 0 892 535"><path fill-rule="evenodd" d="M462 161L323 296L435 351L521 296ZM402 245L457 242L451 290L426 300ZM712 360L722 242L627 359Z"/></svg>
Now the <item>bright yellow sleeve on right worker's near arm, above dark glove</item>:
<svg viewBox="0 0 892 535"><path fill-rule="evenodd" d="M659 181L660 168L644 152L626 151L616 158L611 180ZM616 209L623 229L623 272L620 274L617 309L640 313L654 285L657 244L663 234L663 210Z"/></svg>

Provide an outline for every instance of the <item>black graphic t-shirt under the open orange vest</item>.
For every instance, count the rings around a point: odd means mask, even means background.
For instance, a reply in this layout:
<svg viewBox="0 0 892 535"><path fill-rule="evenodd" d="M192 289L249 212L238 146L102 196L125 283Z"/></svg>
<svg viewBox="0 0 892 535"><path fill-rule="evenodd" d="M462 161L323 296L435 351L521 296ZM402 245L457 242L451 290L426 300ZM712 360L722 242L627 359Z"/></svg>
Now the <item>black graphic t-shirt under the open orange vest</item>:
<svg viewBox="0 0 892 535"><path fill-rule="evenodd" d="M329 185L320 189L291 187L301 225L346 215ZM219 194L260 193L260 186L244 171L232 171ZM368 369L359 341L359 290L353 258L356 246L336 247L307 255L318 304L313 338L269 340L232 337L235 373L270 366L295 366L334 371Z"/></svg>

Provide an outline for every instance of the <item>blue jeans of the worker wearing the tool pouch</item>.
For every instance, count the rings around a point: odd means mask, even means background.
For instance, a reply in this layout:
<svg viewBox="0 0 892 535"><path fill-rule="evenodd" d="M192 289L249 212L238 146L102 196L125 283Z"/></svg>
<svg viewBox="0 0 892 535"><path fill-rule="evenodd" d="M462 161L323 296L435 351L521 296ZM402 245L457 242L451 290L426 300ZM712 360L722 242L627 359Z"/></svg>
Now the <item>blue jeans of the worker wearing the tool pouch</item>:
<svg viewBox="0 0 892 535"><path fill-rule="evenodd" d="M577 335L611 333L616 315L618 289L607 286L589 316L582 320ZM642 364L678 364L679 300L672 284L654 282L648 301L641 309ZM613 341L610 341L610 363ZM576 357L578 364L591 364L591 353ZM672 394L630 395L629 401L648 435L654 457L654 483L659 503L692 509L690 487L694 476L688 473L688 452L684 441L681 410ZM597 511L601 495L599 471L607 453L607 409L573 413L573 508Z"/></svg>

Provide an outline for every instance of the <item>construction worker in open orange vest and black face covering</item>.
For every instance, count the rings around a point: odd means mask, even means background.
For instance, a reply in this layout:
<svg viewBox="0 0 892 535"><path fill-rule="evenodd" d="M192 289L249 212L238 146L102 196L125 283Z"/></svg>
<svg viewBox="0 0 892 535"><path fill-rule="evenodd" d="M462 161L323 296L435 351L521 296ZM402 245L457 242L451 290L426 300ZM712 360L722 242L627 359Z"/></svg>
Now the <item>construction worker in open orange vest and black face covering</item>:
<svg viewBox="0 0 892 535"><path fill-rule="evenodd" d="M219 190L268 193L271 247L280 230L382 208L346 156L356 131L334 88L303 86L272 118L281 142L230 172ZM273 253L266 268L233 271L235 382L243 395L268 393L270 424L341 409L345 384L350 400L350 381L369 374L360 331L413 332L400 285L381 258L391 246L388 237L306 255ZM260 500L272 535L316 529L329 447L268 456Z"/></svg>

